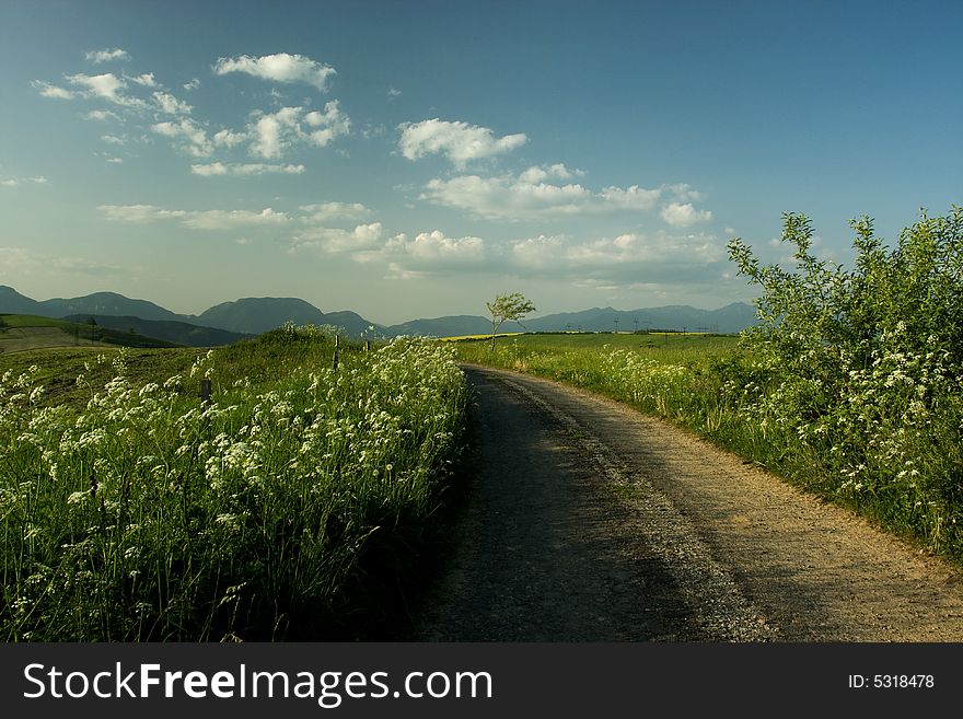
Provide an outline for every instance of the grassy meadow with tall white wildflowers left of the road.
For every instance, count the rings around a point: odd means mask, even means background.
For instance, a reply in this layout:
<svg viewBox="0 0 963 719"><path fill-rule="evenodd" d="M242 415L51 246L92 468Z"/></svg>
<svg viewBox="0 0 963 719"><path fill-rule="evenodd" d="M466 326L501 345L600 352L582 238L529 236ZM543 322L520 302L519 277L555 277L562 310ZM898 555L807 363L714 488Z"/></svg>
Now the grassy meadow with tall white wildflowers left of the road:
<svg viewBox="0 0 963 719"><path fill-rule="evenodd" d="M0 356L0 637L383 630L450 489L465 385L429 343L343 343L337 371L334 349L287 328L208 352Z"/></svg>

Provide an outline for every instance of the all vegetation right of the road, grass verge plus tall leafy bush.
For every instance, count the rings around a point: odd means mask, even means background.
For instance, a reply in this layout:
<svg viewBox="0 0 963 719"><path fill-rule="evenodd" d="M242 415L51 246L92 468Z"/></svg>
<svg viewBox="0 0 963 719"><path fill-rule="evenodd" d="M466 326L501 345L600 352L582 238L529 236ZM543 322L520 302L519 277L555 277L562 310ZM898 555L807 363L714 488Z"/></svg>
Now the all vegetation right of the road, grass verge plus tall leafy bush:
<svg viewBox="0 0 963 719"><path fill-rule="evenodd" d="M459 355L630 403L963 560L963 209L892 247L854 221L852 269L814 256L804 216L784 221L792 268L730 243L759 292L739 340L526 335Z"/></svg>

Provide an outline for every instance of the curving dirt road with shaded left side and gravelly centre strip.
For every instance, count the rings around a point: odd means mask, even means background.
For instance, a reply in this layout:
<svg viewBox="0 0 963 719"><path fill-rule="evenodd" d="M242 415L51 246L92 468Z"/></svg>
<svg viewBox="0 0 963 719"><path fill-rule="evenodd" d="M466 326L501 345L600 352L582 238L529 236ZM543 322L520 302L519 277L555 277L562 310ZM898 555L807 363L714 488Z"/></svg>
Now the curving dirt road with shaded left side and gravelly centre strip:
<svg viewBox="0 0 963 719"><path fill-rule="evenodd" d="M416 639L963 641L963 575L614 402L465 368L477 476Z"/></svg>

